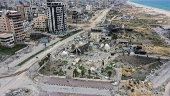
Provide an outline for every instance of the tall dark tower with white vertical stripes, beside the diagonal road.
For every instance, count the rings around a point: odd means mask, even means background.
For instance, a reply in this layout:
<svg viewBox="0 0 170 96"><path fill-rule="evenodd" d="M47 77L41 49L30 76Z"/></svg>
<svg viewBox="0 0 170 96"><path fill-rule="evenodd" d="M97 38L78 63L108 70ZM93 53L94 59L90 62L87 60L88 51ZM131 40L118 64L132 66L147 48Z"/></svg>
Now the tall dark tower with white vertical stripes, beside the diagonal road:
<svg viewBox="0 0 170 96"><path fill-rule="evenodd" d="M62 34L67 31L66 3L47 1L49 32Z"/></svg>

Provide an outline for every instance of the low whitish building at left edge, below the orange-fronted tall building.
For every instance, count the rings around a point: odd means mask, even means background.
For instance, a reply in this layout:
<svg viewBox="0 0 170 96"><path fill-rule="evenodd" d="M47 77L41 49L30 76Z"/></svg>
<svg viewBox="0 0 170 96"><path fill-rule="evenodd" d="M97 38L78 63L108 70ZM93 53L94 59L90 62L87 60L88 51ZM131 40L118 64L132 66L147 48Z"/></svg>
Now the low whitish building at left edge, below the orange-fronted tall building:
<svg viewBox="0 0 170 96"><path fill-rule="evenodd" d="M12 33L0 32L0 46L14 47L14 35Z"/></svg>

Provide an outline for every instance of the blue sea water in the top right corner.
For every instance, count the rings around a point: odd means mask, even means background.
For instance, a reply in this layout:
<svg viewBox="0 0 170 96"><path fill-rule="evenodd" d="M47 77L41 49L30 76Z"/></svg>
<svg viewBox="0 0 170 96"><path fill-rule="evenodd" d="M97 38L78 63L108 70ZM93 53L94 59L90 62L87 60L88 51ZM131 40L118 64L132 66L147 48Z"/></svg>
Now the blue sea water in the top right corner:
<svg viewBox="0 0 170 96"><path fill-rule="evenodd" d="M130 2L170 11L170 0L130 0Z"/></svg>

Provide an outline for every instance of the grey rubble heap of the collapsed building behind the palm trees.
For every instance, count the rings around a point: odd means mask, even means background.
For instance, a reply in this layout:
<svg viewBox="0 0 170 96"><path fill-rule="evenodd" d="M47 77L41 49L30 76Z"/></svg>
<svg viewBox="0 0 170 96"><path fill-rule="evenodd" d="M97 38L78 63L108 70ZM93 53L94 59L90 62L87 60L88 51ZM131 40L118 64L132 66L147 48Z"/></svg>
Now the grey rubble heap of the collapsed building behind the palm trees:
<svg viewBox="0 0 170 96"><path fill-rule="evenodd" d="M68 65L73 68L74 66L84 66L87 70L95 71L108 64L111 56L110 50L109 44L98 44L86 36L80 35L76 36L73 41L55 50L51 54L51 63L59 60L68 61Z"/></svg>

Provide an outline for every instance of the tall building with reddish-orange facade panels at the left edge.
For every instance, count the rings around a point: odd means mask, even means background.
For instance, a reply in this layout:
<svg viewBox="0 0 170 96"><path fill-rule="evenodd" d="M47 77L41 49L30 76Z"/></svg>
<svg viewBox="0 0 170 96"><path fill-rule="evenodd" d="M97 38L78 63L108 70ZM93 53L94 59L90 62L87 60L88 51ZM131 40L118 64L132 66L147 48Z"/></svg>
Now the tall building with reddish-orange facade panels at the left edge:
<svg viewBox="0 0 170 96"><path fill-rule="evenodd" d="M0 31L12 33L16 42L22 41L25 38L25 32L21 14L18 11L0 11Z"/></svg>

